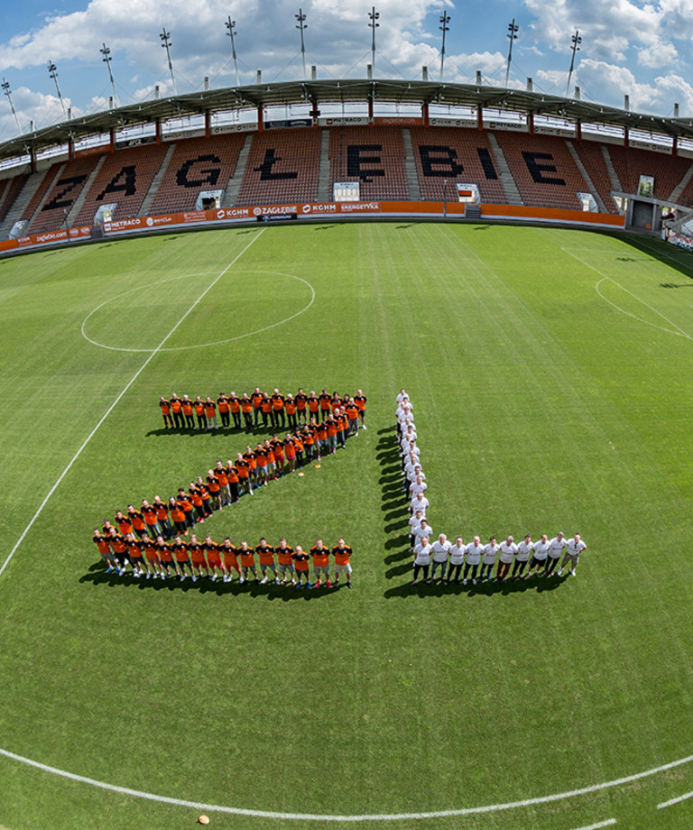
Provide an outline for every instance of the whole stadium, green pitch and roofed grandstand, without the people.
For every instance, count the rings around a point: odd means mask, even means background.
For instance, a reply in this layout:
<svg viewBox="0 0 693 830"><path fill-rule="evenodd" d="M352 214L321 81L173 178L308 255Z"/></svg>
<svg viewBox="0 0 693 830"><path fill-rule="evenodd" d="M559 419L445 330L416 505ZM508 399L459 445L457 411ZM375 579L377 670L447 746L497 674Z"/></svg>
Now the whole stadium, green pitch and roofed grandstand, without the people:
<svg viewBox="0 0 693 830"><path fill-rule="evenodd" d="M0 144L3 828L693 827L693 124L528 87L257 78ZM367 429L203 535L344 537L354 590L106 573L115 510L271 437L160 397L256 386ZM577 578L411 585L402 387L435 534L579 532Z"/></svg>

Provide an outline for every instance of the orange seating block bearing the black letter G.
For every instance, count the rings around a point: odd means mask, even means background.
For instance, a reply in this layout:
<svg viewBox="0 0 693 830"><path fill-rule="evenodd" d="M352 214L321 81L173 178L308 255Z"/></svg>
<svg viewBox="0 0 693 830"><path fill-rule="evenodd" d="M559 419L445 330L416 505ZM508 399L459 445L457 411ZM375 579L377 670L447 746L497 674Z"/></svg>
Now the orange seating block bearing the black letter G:
<svg viewBox="0 0 693 830"><path fill-rule="evenodd" d="M245 134L227 133L178 142L148 212L192 210L200 191L226 190L244 140Z"/></svg>

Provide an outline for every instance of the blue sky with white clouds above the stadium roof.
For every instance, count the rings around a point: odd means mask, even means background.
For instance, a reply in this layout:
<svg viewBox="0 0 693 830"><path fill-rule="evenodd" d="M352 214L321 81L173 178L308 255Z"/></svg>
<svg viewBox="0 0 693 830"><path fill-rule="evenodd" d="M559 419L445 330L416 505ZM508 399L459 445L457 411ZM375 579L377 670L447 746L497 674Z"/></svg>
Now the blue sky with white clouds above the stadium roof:
<svg viewBox="0 0 693 830"><path fill-rule="evenodd" d="M295 16L306 14L306 61L319 78L365 77L371 61L369 12L374 0L23 0L5 12L0 28L0 78L9 99L0 98L0 141L64 119L47 65L72 115L106 109L113 94L99 50L111 51L111 67L122 104L173 93L160 32L171 32L171 59L180 93L234 86L236 73L227 36L236 21L241 83L303 77L300 32ZM571 36L582 42L570 84L582 97L656 115L693 115L693 0L488 0L481 3L379 0L375 77L421 77L427 65L439 78L440 15L449 14L444 80L504 86L508 24L519 26L513 42L509 86L565 95ZM19 126L17 125L19 121Z"/></svg>

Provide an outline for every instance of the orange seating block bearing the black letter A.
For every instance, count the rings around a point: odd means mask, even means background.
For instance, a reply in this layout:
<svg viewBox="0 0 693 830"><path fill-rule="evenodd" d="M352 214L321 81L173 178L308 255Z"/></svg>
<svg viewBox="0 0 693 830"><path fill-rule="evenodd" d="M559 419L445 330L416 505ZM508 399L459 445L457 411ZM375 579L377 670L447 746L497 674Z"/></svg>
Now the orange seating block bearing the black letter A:
<svg viewBox="0 0 693 830"><path fill-rule="evenodd" d="M167 150L152 143L109 153L73 224L93 225L98 208L109 204L118 206L114 219L136 217Z"/></svg>

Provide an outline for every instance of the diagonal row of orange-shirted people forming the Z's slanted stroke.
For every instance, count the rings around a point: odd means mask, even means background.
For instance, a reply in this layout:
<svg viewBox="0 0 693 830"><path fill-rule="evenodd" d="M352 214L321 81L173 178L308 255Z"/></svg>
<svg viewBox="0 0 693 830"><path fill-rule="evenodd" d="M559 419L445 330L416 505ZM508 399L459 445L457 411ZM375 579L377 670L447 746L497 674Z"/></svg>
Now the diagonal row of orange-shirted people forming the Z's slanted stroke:
<svg viewBox="0 0 693 830"><path fill-rule="evenodd" d="M217 459L207 475L197 476L187 489L180 487L167 501L156 495L152 503L143 499L140 507L129 504L125 512L115 512L115 521L121 533L134 533L139 538L171 539L176 533L187 536L196 523L238 502L244 493L252 495L270 481L320 461L337 452L337 447L346 447L348 435L347 419L338 410L337 417L329 415L326 421L311 419L285 438L274 435L254 448L247 445L245 452L226 464Z"/></svg>

